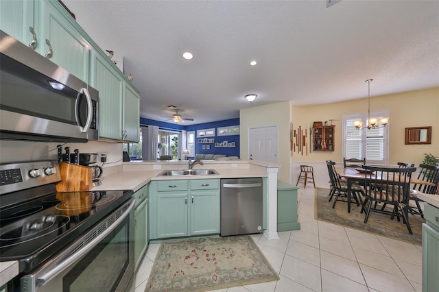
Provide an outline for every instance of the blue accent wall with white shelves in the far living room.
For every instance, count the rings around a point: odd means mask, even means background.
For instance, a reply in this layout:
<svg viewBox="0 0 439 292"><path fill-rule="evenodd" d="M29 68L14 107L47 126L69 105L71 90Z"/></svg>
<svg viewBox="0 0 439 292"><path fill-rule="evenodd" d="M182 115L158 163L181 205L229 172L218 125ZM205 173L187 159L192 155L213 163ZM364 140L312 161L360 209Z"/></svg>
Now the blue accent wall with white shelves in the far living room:
<svg viewBox="0 0 439 292"><path fill-rule="evenodd" d="M197 125L181 125L176 123L166 123L163 121L155 121L152 119L140 118L140 125L156 125L165 130L187 130L187 131L195 131L195 154L224 154L226 156L239 156L239 135L230 135L230 136L217 136L217 128L218 127L228 127L232 125L239 125L239 118L237 119L228 119L223 121L215 121L210 123L199 123ZM208 137L213 138L213 143L198 143L197 138L197 130L202 129L215 129L215 136ZM227 141L228 143L235 143L235 147L215 147L215 143L222 143ZM202 147L209 145L210 149L202 149Z"/></svg>

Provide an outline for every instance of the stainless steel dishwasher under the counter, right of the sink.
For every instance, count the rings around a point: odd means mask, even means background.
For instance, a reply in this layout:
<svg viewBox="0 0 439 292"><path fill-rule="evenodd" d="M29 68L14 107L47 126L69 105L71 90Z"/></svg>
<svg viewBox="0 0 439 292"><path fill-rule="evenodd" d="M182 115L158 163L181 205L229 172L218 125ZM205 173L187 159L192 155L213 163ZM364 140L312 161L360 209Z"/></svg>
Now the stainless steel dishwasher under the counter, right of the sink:
<svg viewBox="0 0 439 292"><path fill-rule="evenodd" d="M263 220L261 178L221 180L221 236L261 233Z"/></svg>

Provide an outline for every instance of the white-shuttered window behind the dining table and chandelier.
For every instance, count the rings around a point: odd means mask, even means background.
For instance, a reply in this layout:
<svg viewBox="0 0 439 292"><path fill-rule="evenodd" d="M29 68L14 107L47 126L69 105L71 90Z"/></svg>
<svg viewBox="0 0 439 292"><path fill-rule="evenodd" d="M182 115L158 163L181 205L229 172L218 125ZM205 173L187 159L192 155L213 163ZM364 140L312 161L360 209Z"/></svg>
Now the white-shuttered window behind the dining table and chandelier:
<svg viewBox="0 0 439 292"><path fill-rule="evenodd" d="M371 117L389 117L389 112L373 112ZM362 159L371 165L388 165L388 127L376 127L357 130L353 121L362 120L367 123L367 114L352 114L343 116L342 129L342 156L346 158Z"/></svg>

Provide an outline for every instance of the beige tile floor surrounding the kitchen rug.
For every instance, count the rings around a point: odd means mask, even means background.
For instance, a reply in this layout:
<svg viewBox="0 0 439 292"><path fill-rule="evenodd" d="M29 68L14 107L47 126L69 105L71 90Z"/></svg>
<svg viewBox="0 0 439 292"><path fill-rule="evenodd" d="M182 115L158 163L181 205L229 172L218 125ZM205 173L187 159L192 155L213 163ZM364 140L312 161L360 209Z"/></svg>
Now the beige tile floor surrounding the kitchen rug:
<svg viewBox="0 0 439 292"><path fill-rule="evenodd" d="M300 230L271 241L253 235L280 280L220 291L422 291L420 246L318 221L313 213L314 189L300 188ZM148 247L135 292L145 290L158 246Z"/></svg>

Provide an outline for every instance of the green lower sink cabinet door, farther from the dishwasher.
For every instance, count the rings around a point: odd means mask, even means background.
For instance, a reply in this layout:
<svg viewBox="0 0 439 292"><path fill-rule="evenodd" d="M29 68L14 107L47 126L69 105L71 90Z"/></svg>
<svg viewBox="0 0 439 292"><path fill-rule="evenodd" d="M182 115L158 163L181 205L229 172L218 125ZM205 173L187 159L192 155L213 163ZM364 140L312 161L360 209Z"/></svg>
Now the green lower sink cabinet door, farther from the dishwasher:
<svg viewBox="0 0 439 292"><path fill-rule="evenodd" d="M158 238L188 236L187 192L158 193L156 204Z"/></svg>

